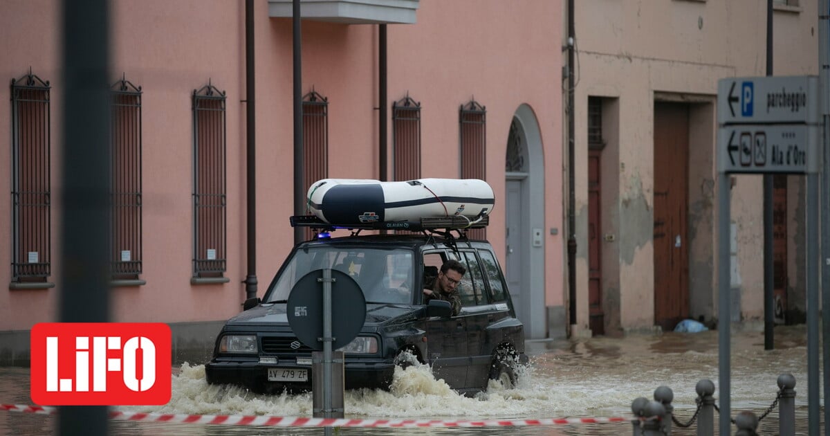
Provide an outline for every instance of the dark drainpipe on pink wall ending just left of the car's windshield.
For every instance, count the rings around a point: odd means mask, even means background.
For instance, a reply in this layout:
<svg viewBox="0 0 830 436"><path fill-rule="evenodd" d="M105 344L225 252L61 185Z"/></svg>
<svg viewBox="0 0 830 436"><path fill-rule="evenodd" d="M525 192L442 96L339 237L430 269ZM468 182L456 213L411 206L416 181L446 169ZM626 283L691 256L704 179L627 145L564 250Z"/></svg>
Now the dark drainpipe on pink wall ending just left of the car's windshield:
<svg viewBox="0 0 830 436"><path fill-rule="evenodd" d="M256 69L254 68L254 0L245 1L245 84L247 120L248 275L245 297L256 297Z"/></svg>

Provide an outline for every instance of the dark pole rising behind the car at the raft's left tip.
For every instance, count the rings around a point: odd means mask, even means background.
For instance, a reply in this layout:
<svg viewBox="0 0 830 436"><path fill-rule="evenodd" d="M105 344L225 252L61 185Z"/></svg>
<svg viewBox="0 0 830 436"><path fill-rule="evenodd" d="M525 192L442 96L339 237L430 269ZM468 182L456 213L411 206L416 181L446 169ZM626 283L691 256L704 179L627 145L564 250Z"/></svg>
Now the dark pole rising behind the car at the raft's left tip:
<svg viewBox="0 0 830 436"><path fill-rule="evenodd" d="M300 0L294 0L291 22L294 24L294 214L305 214L305 187L303 185L303 68L300 47ZM304 239L303 228L294 228L294 243Z"/></svg>

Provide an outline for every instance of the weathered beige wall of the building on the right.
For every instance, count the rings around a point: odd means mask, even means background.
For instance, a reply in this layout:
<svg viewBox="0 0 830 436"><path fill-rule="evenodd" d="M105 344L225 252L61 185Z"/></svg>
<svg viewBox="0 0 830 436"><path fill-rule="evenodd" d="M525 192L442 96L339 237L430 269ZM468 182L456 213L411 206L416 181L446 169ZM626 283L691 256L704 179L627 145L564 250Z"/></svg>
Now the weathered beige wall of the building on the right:
<svg viewBox="0 0 830 436"><path fill-rule="evenodd" d="M603 278L607 330L649 329L654 321L653 105L657 100L683 102L690 107L689 221L691 235L689 283L691 316L716 317L715 258L715 103L717 81L731 76L766 74L766 2L624 0L575 2L577 86L576 192L578 234L578 328L588 328L587 106L588 96L600 96L613 107L604 116L618 117L613 130L618 161L608 164L617 177L603 195L613 220L603 232L615 242L603 242ZM774 11L774 74L818 74L818 5L800 1L798 7ZM608 105L608 104L607 104ZM616 168L618 171L612 169ZM792 181L792 177L790 180ZM790 217L803 217L798 184L790 183ZM762 320L763 218L761 178L738 175L732 190L731 218L736 223L737 272L740 276L740 318ZM800 208L800 209L799 209ZM794 214L794 215L793 215ZM803 301L803 271L797 252L803 247L793 218L789 233L790 301ZM609 248L613 245L613 248ZM605 277L608 275L608 277ZM733 277L735 279L735 277ZM615 313L618 312L618 313Z"/></svg>

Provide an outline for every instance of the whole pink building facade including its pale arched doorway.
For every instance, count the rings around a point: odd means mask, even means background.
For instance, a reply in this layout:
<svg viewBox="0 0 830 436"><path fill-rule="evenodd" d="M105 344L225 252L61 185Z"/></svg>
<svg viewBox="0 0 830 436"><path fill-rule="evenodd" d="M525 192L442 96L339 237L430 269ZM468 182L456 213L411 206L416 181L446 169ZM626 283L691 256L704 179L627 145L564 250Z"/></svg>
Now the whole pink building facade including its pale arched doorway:
<svg viewBox="0 0 830 436"><path fill-rule="evenodd" d="M417 135L410 129L408 138L417 137L419 150L404 167L416 165L420 178L460 178L464 162L483 153L476 171L496 193L486 237L500 253L527 336L564 336L562 2L302 4L301 87L304 94L314 91L326 102L325 165L317 170L331 178L381 177L378 108L385 105L388 179L395 179L396 159L403 159L395 154L396 140L403 141L395 135L406 132L393 120L393 108L408 97L418 105L419 115ZM339 7L327 9L331 4ZM359 7L349 9L349 4ZM0 270L0 282L8 284L0 292L0 360L25 365L27 332L38 322L57 321L61 276L67 267L58 256L63 208L61 2L12 0L3 6L0 76L14 83L0 88L0 95L12 101L0 105L0 137L6 139L8 157L0 159L0 174L6 174L0 186L4 192L17 192L14 180L26 177L27 165L37 167L46 159L49 180L41 189L53 198L46 210L50 231L41 231L48 234L40 239L16 238L16 232L32 230L14 218L24 215L12 198L0 202L5 235L0 238L0 263L12 266ZM290 1L254 2L258 296L294 244L288 221L294 184L290 11ZM134 215L140 220L139 242L114 251L114 261L140 261L140 267L113 277L111 319L170 324L179 358L193 353L198 359L209 350L219 326L241 310L246 297L245 18L242 1L120 0L110 8L112 83L123 80L136 91L127 98L140 96L140 109L129 109L133 115L140 110L140 122L124 121L140 127L140 135L129 130L130 144L140 147L135 154L140 169L120 169L140 179L134 189L141 193L140 213ZM381 22L388 29L386 101L378 101ZM49 139L36 138L47 148L29 159L12 150L29 146L20 142L20 120L31 124L37 118L18 110L25 99L16 100L14 91L15 85L36 78L42 83L35 81L41 86L35 92L49 100L35 109L48 111L38 128L48 130ZM205 86L223 93L223 120L194 115L194 91L204 97L199 90ZM474 152L461 146L466 137L461 110L471 102L484 110L476 119L483 121L482 148ZM221 162L212 163L223 169L225 183L220 228L225 242L218 253L211 252L217 247L200 245L198 240L205 237L194 229L198 211L193 198L203 189L194 181L194 162L201 157L194 150L206 136L210 141L209 133L194 125L208 123L222 129L213 139L222 143L223 138L224 145ZM515 228L512 233L510 226ZM212 265L216 258L224 263L218 271L197 271L194 259L200 257L207 259L203 265ZM34 270L27 268L43 262L48 262L46 274L31 274Z"/></svg>

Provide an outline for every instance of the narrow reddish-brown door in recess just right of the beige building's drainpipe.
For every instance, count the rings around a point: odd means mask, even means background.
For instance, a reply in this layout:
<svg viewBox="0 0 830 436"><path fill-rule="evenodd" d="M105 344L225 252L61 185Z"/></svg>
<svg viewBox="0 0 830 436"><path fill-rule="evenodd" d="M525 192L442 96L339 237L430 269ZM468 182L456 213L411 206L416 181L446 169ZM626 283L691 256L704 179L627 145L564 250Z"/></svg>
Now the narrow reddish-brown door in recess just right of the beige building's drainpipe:
<svg viewBox="0 0 830 436"><path fill-rule="evenodd" d="M594 335L605 334L599 158L600 150L588 151L588 327Z"/></svg>

